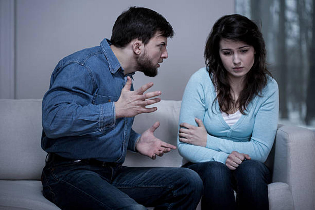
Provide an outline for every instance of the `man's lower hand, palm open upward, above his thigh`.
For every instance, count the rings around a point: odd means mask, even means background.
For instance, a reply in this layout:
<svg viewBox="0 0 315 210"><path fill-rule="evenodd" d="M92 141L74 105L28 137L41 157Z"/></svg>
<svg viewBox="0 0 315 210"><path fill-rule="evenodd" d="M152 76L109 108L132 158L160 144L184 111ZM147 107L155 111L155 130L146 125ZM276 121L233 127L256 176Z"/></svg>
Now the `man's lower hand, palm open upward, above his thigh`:
<svg viewBox="0 0 315 210"><path fill-rule="evenodd" d="M142 133L135 146L140 154L155 159L156 155L162 157L164 153L169 152L171 149L176 149L176 146L161 141L154 136L153 132L159 126L160 123L155 122L151 128Z"/></svg>

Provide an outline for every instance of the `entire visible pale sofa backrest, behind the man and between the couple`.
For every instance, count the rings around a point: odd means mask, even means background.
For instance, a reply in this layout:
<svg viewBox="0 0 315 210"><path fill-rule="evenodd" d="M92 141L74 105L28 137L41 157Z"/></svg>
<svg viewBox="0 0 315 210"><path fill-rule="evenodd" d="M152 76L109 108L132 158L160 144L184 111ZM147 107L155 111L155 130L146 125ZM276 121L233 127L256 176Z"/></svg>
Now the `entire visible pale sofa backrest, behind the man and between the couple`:
<svg viewBox="0 0 315 210"><path fill-rule="evenodd" d="M45 165L41 149L41 99L0 99L0 179L37 179ZM142 133L159 121L155 136L176 145L181 101L161 100L157 111L135 116L133 129ZM272 169L273 150L266 163ZM128 152L123 165L179 167L182 157L172 150L155 160Z"/></svg>

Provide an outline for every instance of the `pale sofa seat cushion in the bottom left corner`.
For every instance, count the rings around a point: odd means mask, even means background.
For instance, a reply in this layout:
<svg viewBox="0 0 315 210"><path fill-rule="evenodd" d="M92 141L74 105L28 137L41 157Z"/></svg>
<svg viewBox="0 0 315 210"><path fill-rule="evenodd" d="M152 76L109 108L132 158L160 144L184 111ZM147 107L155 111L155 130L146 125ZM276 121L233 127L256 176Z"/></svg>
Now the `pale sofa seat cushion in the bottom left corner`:
<svg viewBox="0 0 315 210"><path fill-rule="evenodd" d="M0 180L0 209L60 209L42 194L37 180Z"/></svg>

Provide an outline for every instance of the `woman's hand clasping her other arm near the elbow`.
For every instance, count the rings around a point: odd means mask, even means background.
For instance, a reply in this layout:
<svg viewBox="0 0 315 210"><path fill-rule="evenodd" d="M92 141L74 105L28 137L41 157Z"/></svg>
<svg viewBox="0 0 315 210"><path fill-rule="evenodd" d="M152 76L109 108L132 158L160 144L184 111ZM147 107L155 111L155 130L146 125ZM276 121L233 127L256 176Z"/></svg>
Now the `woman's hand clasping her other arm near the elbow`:
<svg viewBox="0 0 315 210"><path fill-rule="evenodd" d="M185 128L179 129L179 140L188 144L205 147L207 144L207 130L202 120L195 117L195 121L198 123L198 127L186 122L180 123L180 126Z"/></svg>

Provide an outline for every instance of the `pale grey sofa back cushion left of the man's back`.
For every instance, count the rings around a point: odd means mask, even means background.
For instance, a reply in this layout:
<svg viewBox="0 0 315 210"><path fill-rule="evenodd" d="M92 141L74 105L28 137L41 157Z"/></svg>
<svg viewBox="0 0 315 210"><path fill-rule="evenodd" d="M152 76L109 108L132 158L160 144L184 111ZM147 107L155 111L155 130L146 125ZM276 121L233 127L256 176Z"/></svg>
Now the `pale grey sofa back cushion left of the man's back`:
<svg viewBox="0 0 315 210"><path fill-rule="evenodd" d="M0 179L40 179L41 99L0 99Z"/></svg>

